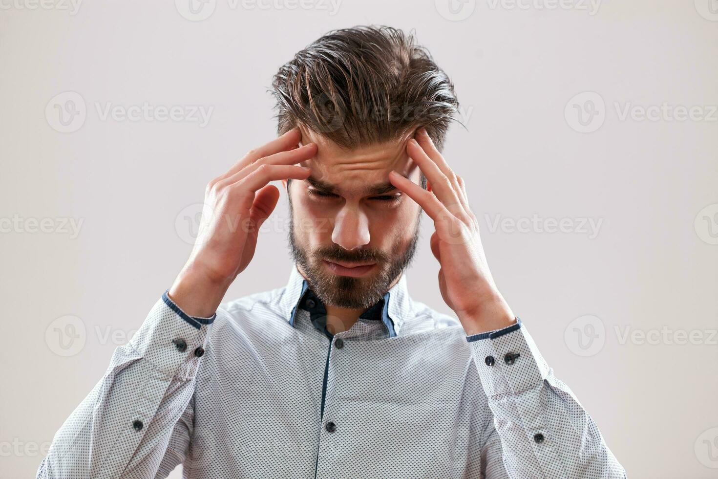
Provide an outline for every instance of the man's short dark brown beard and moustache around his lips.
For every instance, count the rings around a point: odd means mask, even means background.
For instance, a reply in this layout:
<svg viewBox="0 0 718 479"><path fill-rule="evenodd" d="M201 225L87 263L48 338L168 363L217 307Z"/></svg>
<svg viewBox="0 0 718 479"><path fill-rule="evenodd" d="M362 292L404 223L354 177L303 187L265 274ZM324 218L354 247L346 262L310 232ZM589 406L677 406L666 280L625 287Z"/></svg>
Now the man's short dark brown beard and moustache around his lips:
<svg viewBox="0 0 718 479"><path fill-rule="evenodd" d="M309 287L322 303L354 310L365 310L376 304L388 292L394 280L411 264L419 242L419 218L416 220L414 237L404 246L397 240L388 253L368 248L348 251L332 243L331 246L319 246L311 251L297 242L294 236L294 214L289 206L289 245L297 266L307 277ZM354 278L334 274L324 265L327 261L347 261L350 263L375 262L378 272L372 276Z"/></svg>

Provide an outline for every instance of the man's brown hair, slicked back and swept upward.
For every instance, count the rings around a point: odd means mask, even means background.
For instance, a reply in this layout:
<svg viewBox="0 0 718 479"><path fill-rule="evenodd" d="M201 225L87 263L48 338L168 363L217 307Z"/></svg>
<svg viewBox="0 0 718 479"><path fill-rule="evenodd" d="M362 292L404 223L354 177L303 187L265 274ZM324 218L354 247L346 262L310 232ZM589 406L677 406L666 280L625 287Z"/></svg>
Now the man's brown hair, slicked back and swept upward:
<svg viewBox="0 0 718 479"><path fill-rule="evenodd" d="M278 134L302 125L348 149L424 126L441 150L459 106L414 34L384 26L325 34L279 68L271 93Z"/></svg>

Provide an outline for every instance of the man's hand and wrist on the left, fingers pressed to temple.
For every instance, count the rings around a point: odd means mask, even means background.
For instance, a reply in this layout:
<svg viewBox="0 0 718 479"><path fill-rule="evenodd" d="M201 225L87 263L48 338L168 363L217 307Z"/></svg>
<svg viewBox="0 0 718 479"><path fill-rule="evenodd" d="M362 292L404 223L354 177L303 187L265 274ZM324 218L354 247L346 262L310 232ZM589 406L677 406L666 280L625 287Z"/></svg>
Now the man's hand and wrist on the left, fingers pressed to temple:
<svg viewBox="0 0 718 479"><path fill-rule="evenodd" d="M205 209L190 259L169 289L187 315L210 317L225 292L252 257L259 227L279 201L275 180L306 180L309 169L297 163L314 157L314 143L298 147L294 128L248 152L205 190Z"/></svg>

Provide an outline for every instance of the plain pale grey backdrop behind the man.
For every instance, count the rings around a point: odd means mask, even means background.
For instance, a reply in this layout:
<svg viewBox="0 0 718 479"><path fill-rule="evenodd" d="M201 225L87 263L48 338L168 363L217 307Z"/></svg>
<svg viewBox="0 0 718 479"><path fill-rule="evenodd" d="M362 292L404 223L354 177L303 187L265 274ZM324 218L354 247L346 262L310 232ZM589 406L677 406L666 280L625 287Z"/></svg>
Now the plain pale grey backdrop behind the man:
<svg viewBox="0 0 718 479"><path fill-rule="evenodd" d="M454 81L467 129L444 153L498 286L629 476L718 475L717 1L468 0L452 15L442 0L216 0L202 21L183 0L47 1L0 9L2 478L33 477L172 283L205 184L274 136L276 68L329 29L370 23L416 28ZM65 92L85 121L62 133ZM101 114L144 102L180 117ZM663 103L699 109L640 118ZM183 116L192 106L213 108L208 124ZM577 131L578 111L598 113L595 131ZM274 218L225 299L286 281L284 197ZM450 312L431 232L424 218L409 288Z"/></svg>

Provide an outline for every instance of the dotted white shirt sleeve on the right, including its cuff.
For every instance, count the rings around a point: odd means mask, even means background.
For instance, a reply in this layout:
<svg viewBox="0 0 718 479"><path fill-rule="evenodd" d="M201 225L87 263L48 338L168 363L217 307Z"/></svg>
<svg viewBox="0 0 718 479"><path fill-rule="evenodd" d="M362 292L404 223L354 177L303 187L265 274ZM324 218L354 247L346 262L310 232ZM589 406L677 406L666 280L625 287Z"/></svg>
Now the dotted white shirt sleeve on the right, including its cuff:
<svg viewBox="0 0 718 479"><path fill-rule="evenodd" d="M493 440L482 454L490 465L487 478L626 477L593 419L554 376L520 319L466 339L494 417Z"/></svg>

